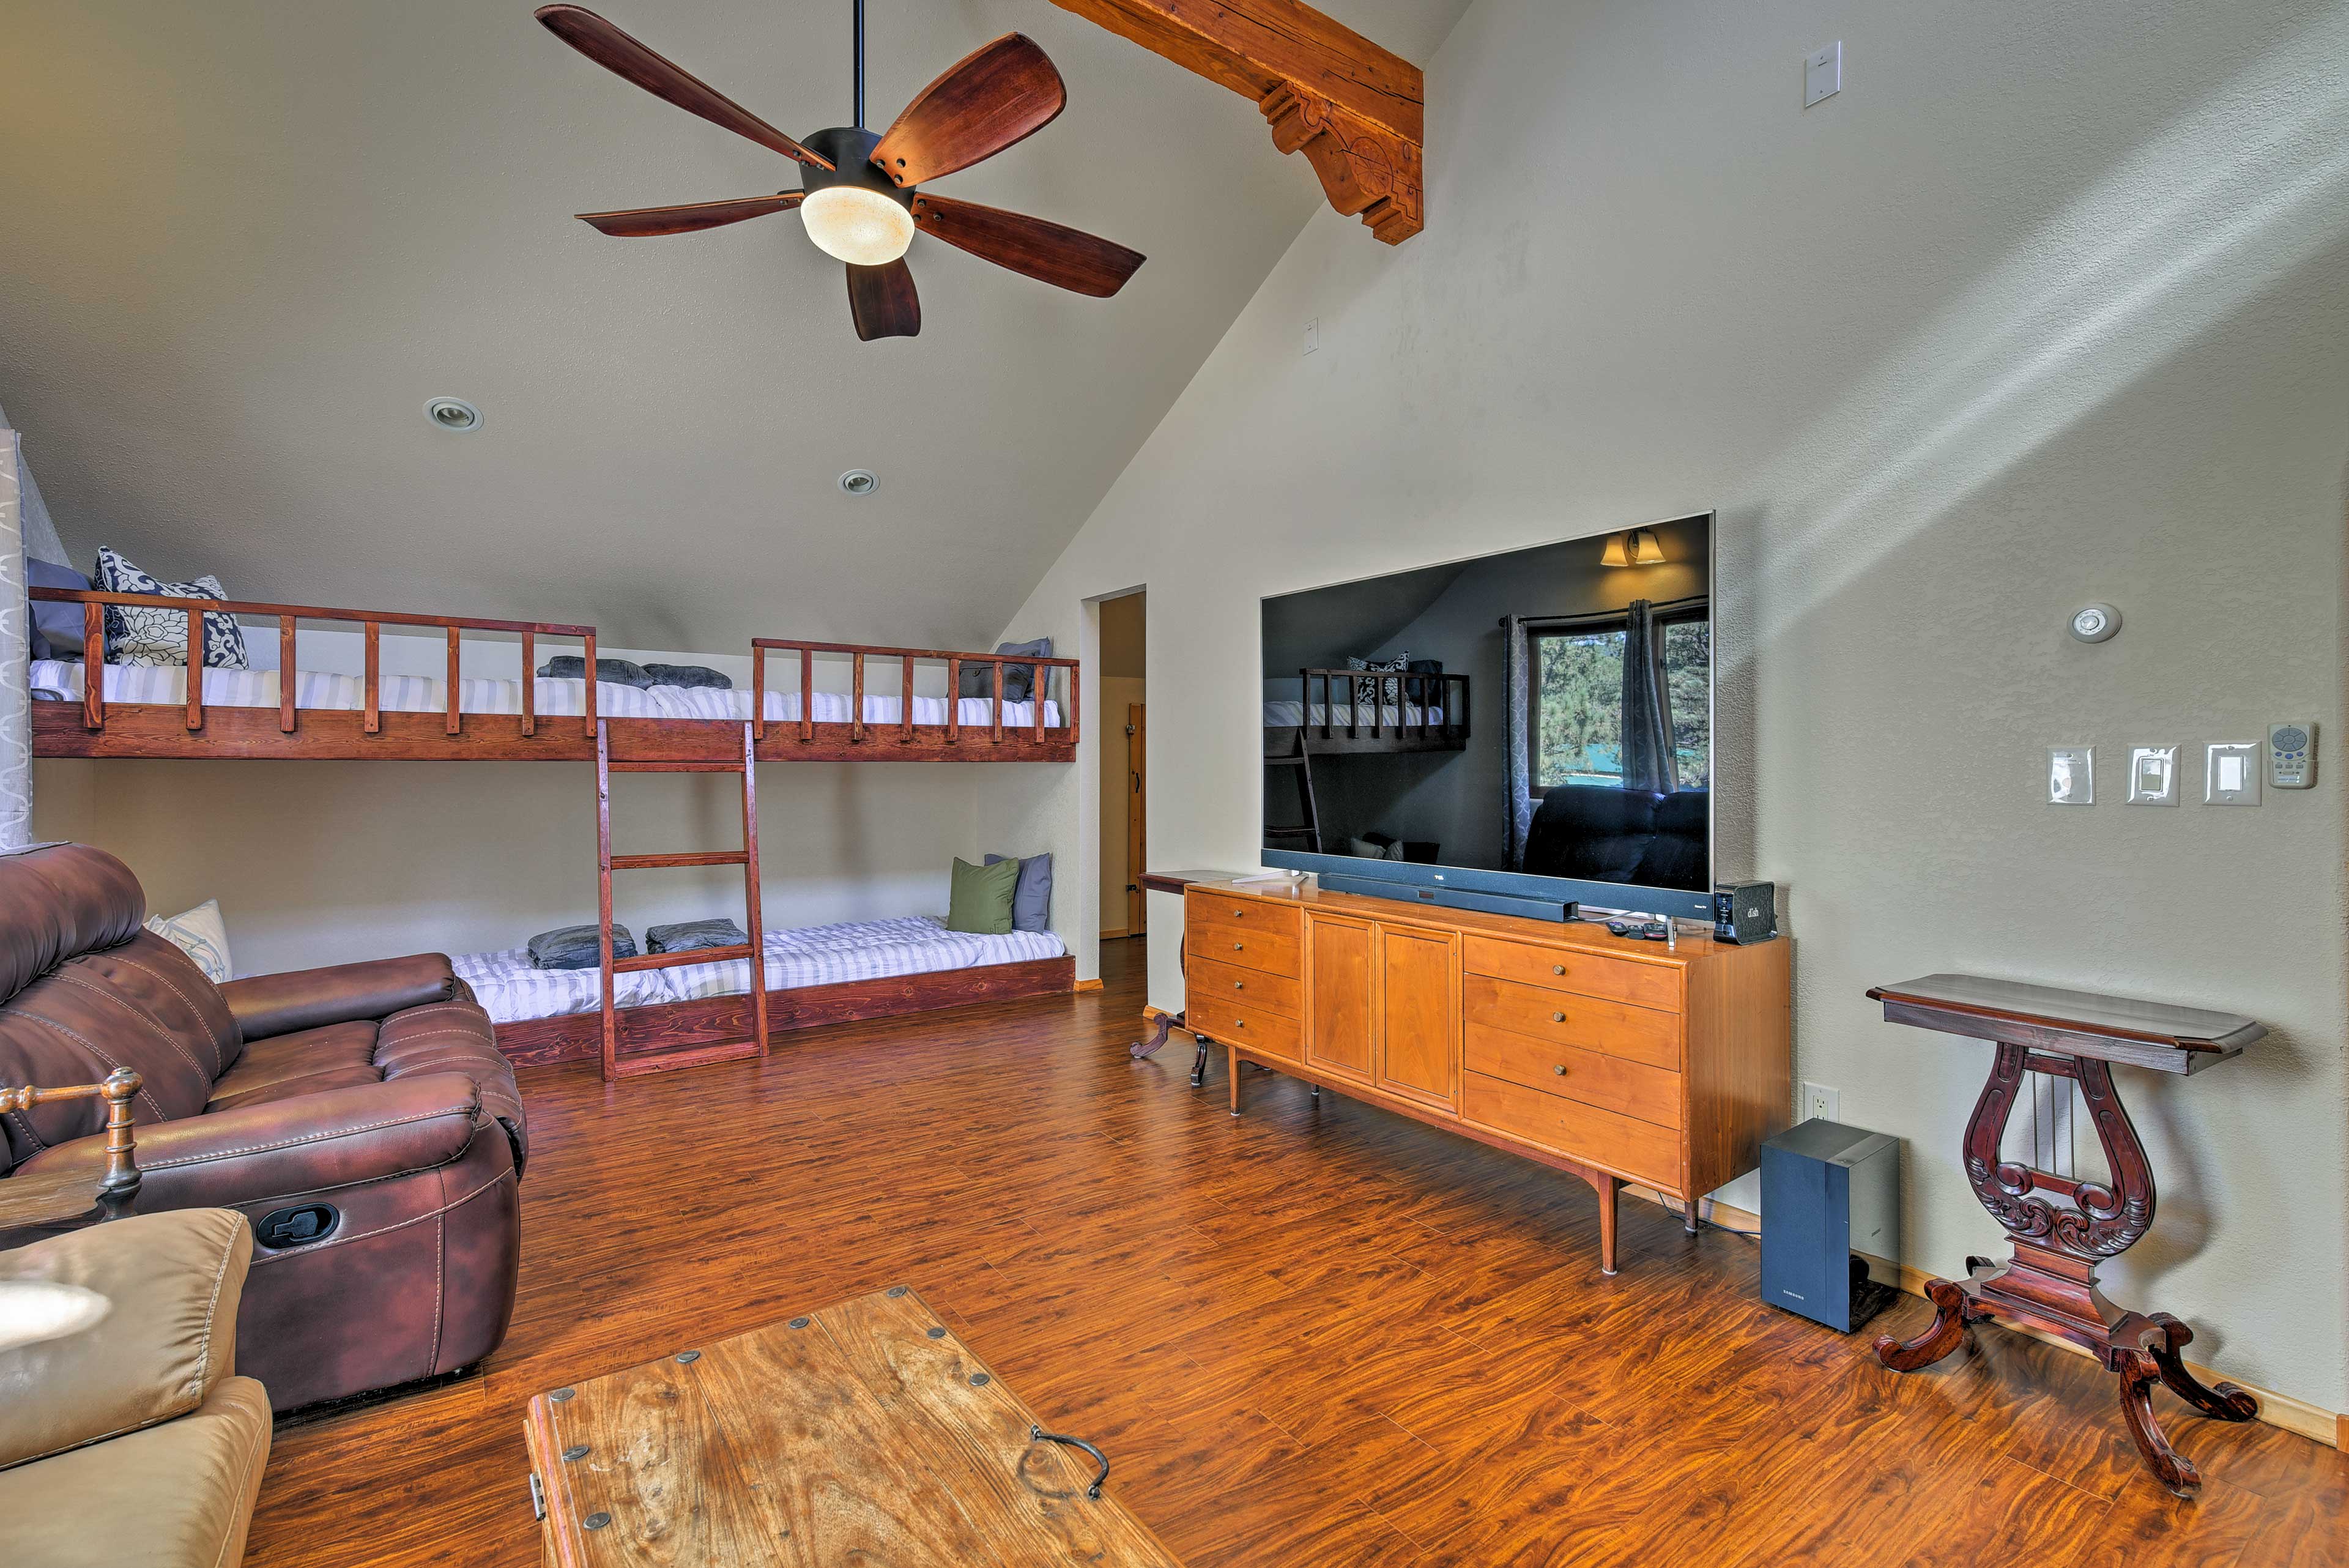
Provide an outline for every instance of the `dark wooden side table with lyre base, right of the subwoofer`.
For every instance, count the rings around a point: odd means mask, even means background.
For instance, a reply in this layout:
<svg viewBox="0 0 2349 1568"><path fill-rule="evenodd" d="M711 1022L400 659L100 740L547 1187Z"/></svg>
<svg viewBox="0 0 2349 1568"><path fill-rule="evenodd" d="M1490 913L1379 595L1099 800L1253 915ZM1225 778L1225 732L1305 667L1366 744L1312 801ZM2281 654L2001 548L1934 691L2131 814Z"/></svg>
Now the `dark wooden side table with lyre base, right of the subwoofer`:
<svg viewBox="0 0 2349 1568"><path fill-rule="evenodd" d="M2152 1385L2217 1420L2250 1420L2255 1401L2232 1382L2206 1387L2178 1354L2194 1331L2168 1312L2123 1312L2095 1288L2095 1267L2128 1251L2154 1222L2154 1173L2138 1128L2112 1086L2112 1063L2192 1074L2243 1053L2267 1027L2234 1013L2206 1013L2128 997L1926 976L1867 992L1886 1023L1910 1023L1997 1044L1990 1081L1966 1121L1966 1180L2013 1255L2004 1265L1968 1258L1961 1281L1933 1279L1933 1326L1914 1340L1877 1338L1877 1359L1907 1373L1940 1361L1978 1321L2013 1321L2062 1335L2121 1378L2121 1413L2147 1467L2180 1497L2201 1474L2154 1422ZM2084 1182L2001 1159L1999 1143L2027 1072L2072 1079L2105 1147L2112 1185ZM2053 1204L2041 1192L2065 1199Z"/></svg>

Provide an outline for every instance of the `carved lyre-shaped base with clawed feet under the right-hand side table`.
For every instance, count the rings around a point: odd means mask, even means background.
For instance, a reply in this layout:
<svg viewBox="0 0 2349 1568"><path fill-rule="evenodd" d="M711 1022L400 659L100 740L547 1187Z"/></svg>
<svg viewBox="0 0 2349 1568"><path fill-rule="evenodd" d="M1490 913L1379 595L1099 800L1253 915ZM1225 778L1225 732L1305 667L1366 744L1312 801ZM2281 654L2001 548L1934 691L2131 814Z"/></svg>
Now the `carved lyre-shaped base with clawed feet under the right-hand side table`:
<svg viewBox="0 0 2349 1568"><path fill-rule="evenodd" d="M2025 1072L2079 1084L2105 1147L2112 1187L1999 1159ZM1983 1208L2006 1227L2013 1258L2004 1265L1968 1258L1966 1279L1929 1281L1933 1324L1914 1340L1879 1335L1877 1359L1896 1373L1931 1366L1964 1345L1968 1328L1980 1321L2004 1319L2062 1335L2121 1378L2121 1415L2138 1439L2138 1453L2163 1486L2192 1497L2201 1488L2201 1474L2161 1434L2152 1403L2154 1382L2168 1385L2217 1420L2250 1420L2260 1413L2260 1401L2232 1382L2213 1389L2194 1378L2178 1354L2194 1331L2168 1312L2121 1312L2095 1288L2095 1265L2128 1251L2154 1222L2154 1173L2138 1128L2112 1091L2112 1065L2093 1056L2058 1056L1999 1041L1990 1081L1966 1121L1966 1180ZM2051 1204L2039 1192L2069 1204Z"/></svg>

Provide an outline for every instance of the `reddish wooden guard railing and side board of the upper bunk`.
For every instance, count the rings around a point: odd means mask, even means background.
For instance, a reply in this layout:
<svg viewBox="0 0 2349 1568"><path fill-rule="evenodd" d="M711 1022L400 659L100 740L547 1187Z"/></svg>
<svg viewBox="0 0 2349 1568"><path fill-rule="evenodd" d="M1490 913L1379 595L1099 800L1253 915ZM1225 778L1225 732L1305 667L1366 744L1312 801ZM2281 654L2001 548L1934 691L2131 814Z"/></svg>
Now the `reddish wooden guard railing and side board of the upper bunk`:
<svg viewBox="0 0 2349 1568"><path fill-rule="evenodd" d="M329 609L319 604L261 604L249 599L179 599L164 595L129 595L75 588L33 588L35 599L82 607L82 703L80 715L63 703L33 703L33 752L38 757L338 757L338 759L420 759L420 762L592 762L597 755L597 719L608 717L611 757L618 762L716 762L740 757L740 719L669 719L613 717L597 710L597 682L585 679L578 726L538 717L536 644L540 637L578 639L585 670L597 668L597 628L547 621L484 621L472 616L418 616L406 611ZM164 609L188 623L186 705L106 701L106 607ZM277 710L204 703L204 616L249 616L277 621ZM357 625L364 637L362 705L303 708L296 635L301 621ZM442 712L385 710L383 628L437 628L449 644L446 691ZM463 712L458 651L465 632L500 632L519 637L519 715ZM799 719L766 717L768 661L796 656ZM848 656L848 722L817 722L815 658ZM867 663L895 665L902 705L895 724L864 719ZM947 689L958 691L963 665L991 668L987 724L963 724L961 698L949 698L944 724L914 724L914 668L944 663ZM1003 670L1034 665L1034 705L1027 724L1003 719ZM1066 670L1059 724L1045 724L1043 703L1050 696L1050 672ZM961 762L1073 762L1078 741L1078 670L1073 658L1034 658L1012 654L963 654L951 649L897 649L857 642L803 642L759 637L752 642L749 726L761 762L881 762L881 759L961 759ZM965 745L968 738L984 745Z"/></svg>

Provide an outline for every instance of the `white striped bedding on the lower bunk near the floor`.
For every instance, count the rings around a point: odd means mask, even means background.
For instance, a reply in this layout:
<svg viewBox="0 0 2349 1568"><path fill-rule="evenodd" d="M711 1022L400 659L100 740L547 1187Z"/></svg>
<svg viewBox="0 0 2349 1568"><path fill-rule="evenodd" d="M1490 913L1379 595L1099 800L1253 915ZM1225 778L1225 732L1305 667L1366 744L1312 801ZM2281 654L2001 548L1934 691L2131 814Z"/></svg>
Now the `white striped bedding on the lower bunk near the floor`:
<svg viewBox="0 0 2349 1568"><path fill-rule="evenodd" d="M630 691L630 686L622 686L622 691ZM839 985L841 980L926 976L942 969L1057 959L1064 952L1066 947L1050 931L970 936L968 931L947 931L947 922L935 914L857 919L839 926L768 931L766 987L799 990L803 985ZM529 947L465 952L453 957L451 966L472 985L472 994L489 1009L493 1023L594 1013L604 1006L601 971L531 969ZM613 980L613 994L620 1006L691 1001L695 997L740 997L747 990L749 959L686 964L681 969L641 969Z"/></svg>

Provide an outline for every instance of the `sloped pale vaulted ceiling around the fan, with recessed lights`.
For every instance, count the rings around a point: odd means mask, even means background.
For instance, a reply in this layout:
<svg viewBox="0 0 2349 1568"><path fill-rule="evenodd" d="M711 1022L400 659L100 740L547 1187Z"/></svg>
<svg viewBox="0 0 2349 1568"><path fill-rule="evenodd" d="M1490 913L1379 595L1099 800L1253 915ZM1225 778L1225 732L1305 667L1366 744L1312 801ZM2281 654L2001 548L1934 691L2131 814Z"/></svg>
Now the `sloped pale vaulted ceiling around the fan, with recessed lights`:
<svg viewBox="0 0 2349 1568"><path fill-rule="evenodd" d="M1322 9L1423 63L1466 2ZM848 0L599 9L792 134L850 118ZM1320 202L1245 99L1048 0L871 0L869 122L1015 28L1069 110L937 188L1149 263L1095 301L916 237L921 336L860 343L794 216L571 216L799 176L531 0L0 0L0 402L85 567L627 646L989 637Z"/></svg>

